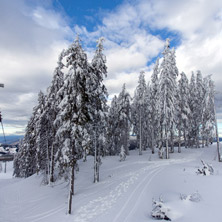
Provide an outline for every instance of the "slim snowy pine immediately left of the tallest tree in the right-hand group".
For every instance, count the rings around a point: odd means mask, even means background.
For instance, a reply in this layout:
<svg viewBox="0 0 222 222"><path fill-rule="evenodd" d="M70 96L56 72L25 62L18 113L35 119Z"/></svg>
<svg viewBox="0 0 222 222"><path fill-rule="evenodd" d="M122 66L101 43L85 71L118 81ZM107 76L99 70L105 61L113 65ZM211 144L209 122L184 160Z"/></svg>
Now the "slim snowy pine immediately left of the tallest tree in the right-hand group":
<svg viewBox="0 0 222 222"><path fill-rule="evenodd" d="M151 150L152 153L155 152L155 146L158 140L159 127L158 127L158 110L159 110L159 59L156 60L156 64L153 69L150 84L150 101L148 106L150 106L150 130L151 130Z"/></svg>

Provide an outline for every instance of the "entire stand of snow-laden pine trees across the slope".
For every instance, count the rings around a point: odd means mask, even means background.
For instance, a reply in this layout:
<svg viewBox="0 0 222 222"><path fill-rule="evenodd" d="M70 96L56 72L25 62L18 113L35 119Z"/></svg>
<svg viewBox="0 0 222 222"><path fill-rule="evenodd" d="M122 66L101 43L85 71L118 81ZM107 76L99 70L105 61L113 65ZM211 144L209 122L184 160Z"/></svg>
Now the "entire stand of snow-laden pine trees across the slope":
<svg viewBox="0 0 222 222"><path fill-rule="evenodd" d="M203 78L197 71L189 81L185 73L179 74L169 39L150 82L141 72L133 98L124 84L108 106L103 40L98 40L91 62L78 37L61 52L47 93L39 92L14 160L16 177L41 173L45 184L69 181L69 213L78 160L87 161L87 155L94 156L96 183L101 156L125 160L130 135L136 136L139 155L151 149L167 159L175 147L181 152L181 146L208 146L215 137L211 76Z"/></svg>

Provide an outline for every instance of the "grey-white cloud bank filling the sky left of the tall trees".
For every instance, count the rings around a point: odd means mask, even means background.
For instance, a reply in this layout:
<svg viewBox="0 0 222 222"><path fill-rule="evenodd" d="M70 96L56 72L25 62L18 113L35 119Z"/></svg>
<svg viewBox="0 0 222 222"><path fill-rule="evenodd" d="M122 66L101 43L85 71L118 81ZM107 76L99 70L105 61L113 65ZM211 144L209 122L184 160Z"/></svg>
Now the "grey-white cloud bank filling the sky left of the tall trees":
<svg viewBox="0 0 222 222"><path fill-rule="evenodd" d="M6 133L24 131L38 91L51 82L66 38L73 34L59 13L28 6L26 1L0 2L1 111ZM14 130L13 130L14 124Z"/></svg>

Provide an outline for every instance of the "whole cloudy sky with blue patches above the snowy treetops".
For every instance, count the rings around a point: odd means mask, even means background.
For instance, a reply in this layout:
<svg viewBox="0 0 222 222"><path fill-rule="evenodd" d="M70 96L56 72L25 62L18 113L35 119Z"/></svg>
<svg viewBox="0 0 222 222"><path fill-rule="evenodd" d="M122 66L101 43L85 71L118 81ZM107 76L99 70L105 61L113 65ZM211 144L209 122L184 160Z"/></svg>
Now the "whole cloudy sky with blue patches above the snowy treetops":
<svg viewBox="0 0 222 222"><path fill-rule="evenodd" d="M105 37L110 98L124 82L133 93L141 70L148 81L170 38L179 71L213 74L221 104L221 0L0 0L0 110L7 134L24 132L38 92L49 86L58 54L76 33L89 59Z"/></svg>

